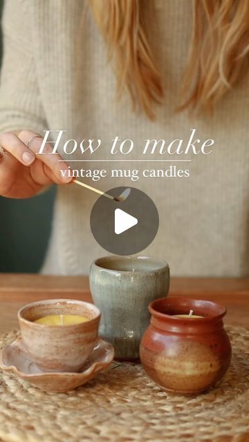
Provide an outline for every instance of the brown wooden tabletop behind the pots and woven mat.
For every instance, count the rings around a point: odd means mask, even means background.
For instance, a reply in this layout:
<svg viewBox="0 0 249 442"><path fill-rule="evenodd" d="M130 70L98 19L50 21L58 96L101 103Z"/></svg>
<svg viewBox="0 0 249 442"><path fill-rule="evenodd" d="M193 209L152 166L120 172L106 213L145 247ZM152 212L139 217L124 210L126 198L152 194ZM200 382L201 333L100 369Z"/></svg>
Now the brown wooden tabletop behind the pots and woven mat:
<svg viewBox="0 0 249 442"><path fill-rule="evenodd" d="M249 325L249 278L172 278L169 294L220 302L228 309L225 323ZM88 278L0 273L0 334L18 327L22 305L49 298L91 300Z"/></svg>

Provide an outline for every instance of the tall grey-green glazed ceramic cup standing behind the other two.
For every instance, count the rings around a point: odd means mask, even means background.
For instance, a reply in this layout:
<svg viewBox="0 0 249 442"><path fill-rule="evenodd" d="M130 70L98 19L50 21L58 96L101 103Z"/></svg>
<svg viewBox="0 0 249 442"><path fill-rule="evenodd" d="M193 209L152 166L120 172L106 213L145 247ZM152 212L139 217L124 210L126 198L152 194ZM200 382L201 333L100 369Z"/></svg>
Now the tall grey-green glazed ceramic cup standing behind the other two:
<svg viewBox="0 0 249 442"><path fill-rule="evenodd" d="M148 305L167 296L169 266L148 256L107 256L95 260L89 282L102 311L100 335L115 348L115 357L139 358L142 334L149 325Z"/></svg>

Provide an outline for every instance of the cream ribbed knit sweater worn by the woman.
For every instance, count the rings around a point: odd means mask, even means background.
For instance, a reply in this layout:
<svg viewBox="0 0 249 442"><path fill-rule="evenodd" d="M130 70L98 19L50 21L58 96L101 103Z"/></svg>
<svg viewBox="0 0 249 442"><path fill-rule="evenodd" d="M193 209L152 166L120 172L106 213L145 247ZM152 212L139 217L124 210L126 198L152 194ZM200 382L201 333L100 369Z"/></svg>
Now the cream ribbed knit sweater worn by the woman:
<svg viewBox="0 0 249 442"><path fill-rule="evenodd" d="M109 146L116 136L132 139L138 150L129 157L139 159L145 139L187 142L190 130L196 128L196 136L214 139L215 147L212 155L189 155L190 177L84 181L103 190L136 186L154 199L160 227L142 253L167 260L173 275L249 276L248 75L212 117L174 113L190 44L192 1L146 3L151 47L165 87L156 122L135 115L126 94L116 104L115 75L90 11L84 19L79 60L77 36L84 0L5 3L0 131L27 128L41 133L49 128L66 130L65 140L100 138L104 148L97 158L109 160ZM79 64L76 110L73 85ZM166 169L165 164L151 162L149 168ZM112 166L94 164L96 169ZM81 167L92 166L82 163ZM126 163L125 169L129 168L142 171L145 166ZM94 193L73 184L58 187L44 273L86 274L94 258L107 254L91 234L89 215L95 200Z"/></svg>

